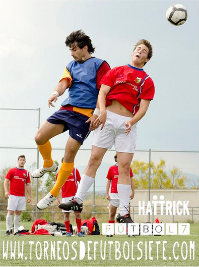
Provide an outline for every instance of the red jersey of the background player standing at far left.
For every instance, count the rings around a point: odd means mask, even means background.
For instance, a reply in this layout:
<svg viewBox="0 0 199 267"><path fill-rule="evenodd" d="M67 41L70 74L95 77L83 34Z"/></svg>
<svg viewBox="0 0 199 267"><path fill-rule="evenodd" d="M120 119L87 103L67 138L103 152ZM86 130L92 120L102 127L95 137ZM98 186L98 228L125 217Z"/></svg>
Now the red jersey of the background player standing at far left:
<svg viewBox="0 0 199 267"><path fill-rule="evenodd" d="M8 171L6 179L10 180L10 195L25 196L25 184L30 183L30 175L25 169L12 168Z"/></svg>

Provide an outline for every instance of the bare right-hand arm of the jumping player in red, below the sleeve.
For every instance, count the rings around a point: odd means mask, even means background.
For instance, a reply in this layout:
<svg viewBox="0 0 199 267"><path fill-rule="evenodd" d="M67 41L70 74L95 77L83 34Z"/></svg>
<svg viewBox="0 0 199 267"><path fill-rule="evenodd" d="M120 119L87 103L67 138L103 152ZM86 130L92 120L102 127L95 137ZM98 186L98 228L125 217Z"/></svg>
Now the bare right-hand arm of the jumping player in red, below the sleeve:
<svg viewBox="0 0 199 267"><path fill-rule="evenodd" d="M145 114L149 108L150 102L151 102L151 100L149 100L149 99L141 99L139 111L129 121L125 122L125 126L126 126L125 133L126 134L128 134L130 132L130 129L134 124L139 122L145 116Z"/></svg>

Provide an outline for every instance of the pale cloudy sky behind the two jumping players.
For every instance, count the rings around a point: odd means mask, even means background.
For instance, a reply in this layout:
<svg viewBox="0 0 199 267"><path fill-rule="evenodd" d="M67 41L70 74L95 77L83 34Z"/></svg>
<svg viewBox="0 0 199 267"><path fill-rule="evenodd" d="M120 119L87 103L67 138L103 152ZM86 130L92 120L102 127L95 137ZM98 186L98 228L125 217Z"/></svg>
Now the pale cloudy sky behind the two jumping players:
<svg viewBox="0 0 199 267"><path fill-rule="evenodd" d="M47 99L73 60L64 42L74 30L82 29L91 37L96 46L93 56L105 59L111 68L130 63L135 43L144 38L153 45L153 57L144 69L156 91L137 126L137 149L198 151L198 1L177 2L188 13L181 26L166 19L167 9L175 3L1 1L1 108L40 108L40 124L59 109L67 92L58 98L55 108L48 108ZM1 146L35 147L37 127L38 111L1 111ZM64 148L67 138L68 133L53 138L53 148ZM91 142L92 133L82 148L91 148ZM30 165L35 161L35 150L3 148L2 166L15 164L17 155L24 151ZM55 159L59 160L62 152L54 153ZM104 161L110 165L114 151L109 153ZM86 165L90 151L84 158L82 154L78 166ZM183 159L176 159L175 154L166 157L179 165L190 161L192 173L198 174L198 154L186 155Z"/></svg>

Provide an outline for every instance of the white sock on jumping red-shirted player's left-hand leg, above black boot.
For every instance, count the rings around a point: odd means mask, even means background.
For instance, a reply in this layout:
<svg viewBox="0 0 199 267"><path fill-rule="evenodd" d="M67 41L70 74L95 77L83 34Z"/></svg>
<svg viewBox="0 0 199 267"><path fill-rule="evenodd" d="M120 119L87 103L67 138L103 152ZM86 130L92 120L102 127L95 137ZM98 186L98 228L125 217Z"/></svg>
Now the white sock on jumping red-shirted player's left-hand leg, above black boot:
<svg viewBox="0 0 199 267"><path fill-rule="evenodd" d="M87 191L94 183L94 178L87 176L86 174L82 175L82 178L80 180L80 184L78 187L78 191L75 195L77 203L81 204L84 201L84 198L86 196Z"/></svg>

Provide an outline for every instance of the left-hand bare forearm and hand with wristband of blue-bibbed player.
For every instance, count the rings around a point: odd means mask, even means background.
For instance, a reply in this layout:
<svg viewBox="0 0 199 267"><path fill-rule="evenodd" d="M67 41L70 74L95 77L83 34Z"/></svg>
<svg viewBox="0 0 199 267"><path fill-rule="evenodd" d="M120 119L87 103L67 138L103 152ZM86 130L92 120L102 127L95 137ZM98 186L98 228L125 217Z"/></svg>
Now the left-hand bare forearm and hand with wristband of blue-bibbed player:
<svg viewBox="0 0 199 267"><path fill-rule="evenodd" d="M67 88L69 88L70 86L70 80L68 78L62 79L57 86L54 89L54 92L50 95L49 99L48 99L48 106L50 108L50 106L54 105L52 104L52 102L56 102L58 96L62 95L65 90Z"/></svg>

